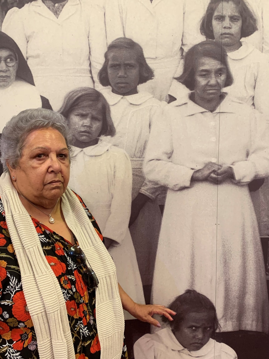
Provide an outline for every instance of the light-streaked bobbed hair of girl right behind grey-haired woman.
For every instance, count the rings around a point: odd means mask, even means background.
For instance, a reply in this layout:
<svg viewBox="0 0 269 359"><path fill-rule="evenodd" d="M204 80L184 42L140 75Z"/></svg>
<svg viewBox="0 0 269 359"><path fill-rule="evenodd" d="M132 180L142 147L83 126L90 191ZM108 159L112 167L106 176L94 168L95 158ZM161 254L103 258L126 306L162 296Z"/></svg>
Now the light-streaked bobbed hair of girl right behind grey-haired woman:
<svg viewBox="0 0 269 359"><path fill-rule="evenodd" d="M91 87L79 87L65 95L62 107L58 111L68 120L70 113L78 107L90 106L95 108L101 106L103 125L99 136L115 136L116 130L110 115L110 107L102 93Z"/></svg>

